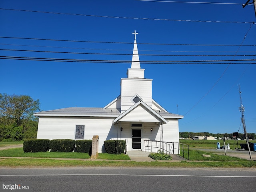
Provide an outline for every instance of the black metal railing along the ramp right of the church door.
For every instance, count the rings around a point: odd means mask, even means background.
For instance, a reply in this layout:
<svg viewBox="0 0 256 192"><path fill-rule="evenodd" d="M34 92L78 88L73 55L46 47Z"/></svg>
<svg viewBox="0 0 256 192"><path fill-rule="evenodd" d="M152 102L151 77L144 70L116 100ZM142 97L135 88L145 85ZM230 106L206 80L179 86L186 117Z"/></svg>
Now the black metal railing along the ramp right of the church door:
<svg viewBox="0 0 256 192"><path fill-rule="evenodd" d="M189 160L189 146L183 143L164 142L164 141L157 141L157 140L144 140L144 146L145 146L145 152L146 152L146 148L148 148L150 152L152 152L152 148L156 148L157 152L160 151L169 155L174 154L174 150L178 150L178 154L180 156Z"/></svg>

